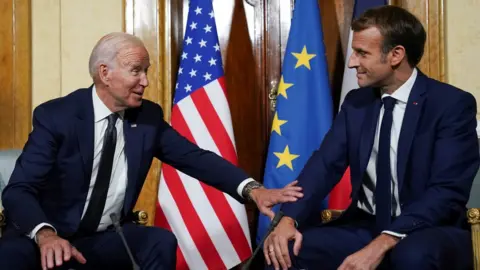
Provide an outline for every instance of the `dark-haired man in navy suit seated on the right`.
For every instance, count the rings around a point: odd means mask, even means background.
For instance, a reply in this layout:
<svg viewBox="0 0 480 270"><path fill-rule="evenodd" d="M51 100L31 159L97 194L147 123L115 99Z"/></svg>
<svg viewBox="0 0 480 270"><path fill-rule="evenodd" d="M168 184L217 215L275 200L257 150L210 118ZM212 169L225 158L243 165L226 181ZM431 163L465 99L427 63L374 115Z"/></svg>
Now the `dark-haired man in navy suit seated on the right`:
<svg viewBox="0 0 480 270"><path fill-rule="evenodd" d="M282 206L264 244L268 268L473 269L465 211L479 167L475 98L416 68L426 33L408 11L371 9L352 29L360 88L299 175L304 197ZM350 207L309 224L347 166Z"/></svg>

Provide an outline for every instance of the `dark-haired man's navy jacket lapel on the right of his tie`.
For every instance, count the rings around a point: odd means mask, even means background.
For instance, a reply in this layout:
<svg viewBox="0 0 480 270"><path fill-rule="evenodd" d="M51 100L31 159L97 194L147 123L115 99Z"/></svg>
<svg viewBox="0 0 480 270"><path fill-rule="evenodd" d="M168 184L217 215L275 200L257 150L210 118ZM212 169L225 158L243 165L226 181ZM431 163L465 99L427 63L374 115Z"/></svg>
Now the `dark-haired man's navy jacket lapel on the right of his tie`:
<svg viewBox="0 0 480 270"><path fill-rule="evenodd" d="M425 75L418 71L417 79L408 98L405 115L403 116L402 128L400 130L400 138L398 139L397 147L397 176L399 191L405 180L405 170L408 157L410 155L413 138L415 137L418 120L425 101L424 94L427 88L426 79Z"/></svg>

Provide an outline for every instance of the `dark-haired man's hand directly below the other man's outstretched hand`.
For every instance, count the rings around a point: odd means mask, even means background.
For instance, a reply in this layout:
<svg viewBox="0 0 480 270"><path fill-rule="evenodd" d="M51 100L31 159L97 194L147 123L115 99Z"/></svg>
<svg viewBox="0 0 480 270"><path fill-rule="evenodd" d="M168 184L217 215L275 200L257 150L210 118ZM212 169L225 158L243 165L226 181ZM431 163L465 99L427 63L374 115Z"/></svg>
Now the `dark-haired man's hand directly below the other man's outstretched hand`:
<svg viewBox="0 0 480 270"><path fill-rule="evenodd" d="M292 266L288 253L288 241L295 239L293 253L298 255L302 246L302 234L295 228L294 220L284 217L263 244L263 254L268 265L273 263L275 269L287 270Z"/></svg>

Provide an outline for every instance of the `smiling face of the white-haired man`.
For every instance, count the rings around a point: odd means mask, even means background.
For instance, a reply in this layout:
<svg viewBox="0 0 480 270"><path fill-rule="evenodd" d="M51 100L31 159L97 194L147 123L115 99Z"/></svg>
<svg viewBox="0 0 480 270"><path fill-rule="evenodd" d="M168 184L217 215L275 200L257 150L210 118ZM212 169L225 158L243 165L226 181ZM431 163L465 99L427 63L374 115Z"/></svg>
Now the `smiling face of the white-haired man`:
<svg viewBox="0 0 480 270"><path fill-rule="evenodd" d="M107 107L120 111L141 106L148 86L150 57L147 50L138 45L123 47L112 62L112 65L101 64L99 68L107 86L105 98L110 101L104 100Z"/></svg>

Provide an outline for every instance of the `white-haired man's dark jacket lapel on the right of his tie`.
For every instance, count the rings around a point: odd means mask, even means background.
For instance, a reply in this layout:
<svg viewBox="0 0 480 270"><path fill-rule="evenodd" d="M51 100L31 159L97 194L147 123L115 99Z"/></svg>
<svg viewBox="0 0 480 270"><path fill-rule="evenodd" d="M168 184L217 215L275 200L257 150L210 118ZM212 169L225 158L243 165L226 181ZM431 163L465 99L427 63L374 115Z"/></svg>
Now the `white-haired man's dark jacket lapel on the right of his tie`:
<svg viewBox="0 0 480 270"><path fill-rule="evenodd" d="M128 164L128 184L125 192L123 205L126 215L132 207L136 194L136 184L139 179L139 168L142 161L144 132L142 125L137 125L137 110L127 110L123 122L123 134L125 136L125 155Z"/></svg>

